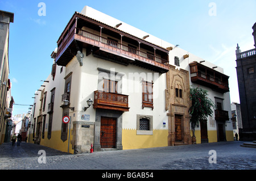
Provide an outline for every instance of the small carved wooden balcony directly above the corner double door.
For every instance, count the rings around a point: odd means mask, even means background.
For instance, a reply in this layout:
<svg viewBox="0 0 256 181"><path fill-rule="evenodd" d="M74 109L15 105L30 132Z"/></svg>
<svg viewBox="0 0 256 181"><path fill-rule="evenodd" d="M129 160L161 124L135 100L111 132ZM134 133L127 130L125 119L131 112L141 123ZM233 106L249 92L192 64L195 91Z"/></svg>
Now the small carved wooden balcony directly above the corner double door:
<svg viewBox="0 0 256 181"><path fill-rule="evenodd" d="M94 91L93 108L106 110L129 111L128 95L116 94L112 92Z"/></svg>

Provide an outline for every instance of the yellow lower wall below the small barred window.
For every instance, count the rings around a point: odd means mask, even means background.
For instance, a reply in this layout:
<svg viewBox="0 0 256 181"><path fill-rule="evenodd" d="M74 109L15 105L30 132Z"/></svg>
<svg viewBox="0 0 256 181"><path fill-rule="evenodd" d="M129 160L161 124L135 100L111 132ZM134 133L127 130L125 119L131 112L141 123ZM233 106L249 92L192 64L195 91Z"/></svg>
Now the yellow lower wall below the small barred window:
<svg viewBox="0 0 256 181"><path fill-rule="evenodd" d="M153 130L152 135L137 135L136 129L122 130L123 150L168 146L168 130Z"/></svg>

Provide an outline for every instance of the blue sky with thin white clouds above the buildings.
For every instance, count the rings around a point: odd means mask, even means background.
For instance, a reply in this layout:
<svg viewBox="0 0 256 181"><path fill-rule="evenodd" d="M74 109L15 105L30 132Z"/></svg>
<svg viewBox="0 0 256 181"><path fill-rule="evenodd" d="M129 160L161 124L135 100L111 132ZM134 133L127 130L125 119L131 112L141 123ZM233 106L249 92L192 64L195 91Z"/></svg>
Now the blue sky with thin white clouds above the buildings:
<svg viewBox="0 0 256 181"><path fill-rule="evenodd" d="M46 16L38 14L40 2L46 4ZM211 3L214 6L209 6ZM235 50L237 43L242 51L254 48L255 0L0 0L1 10L14 12L9 78L16 104L33 104L40 81L51 73L57 39L74 12L81 12L86 5L221 66L230 76L231 102L240 102ZM28 107L15 105L13 115L26 113Z"/></svg>

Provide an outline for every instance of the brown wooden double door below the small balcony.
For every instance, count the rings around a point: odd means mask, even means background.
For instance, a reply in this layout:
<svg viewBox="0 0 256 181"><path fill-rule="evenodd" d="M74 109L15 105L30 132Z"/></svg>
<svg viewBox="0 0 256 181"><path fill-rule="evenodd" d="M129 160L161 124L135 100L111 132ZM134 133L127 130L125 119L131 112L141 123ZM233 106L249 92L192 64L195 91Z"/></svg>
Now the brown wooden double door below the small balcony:
<svg viewBox="0 0 256 181"><path fill-rule="evenodd" d="M101 117L101 148L116 148L117 119Z"/></svg>

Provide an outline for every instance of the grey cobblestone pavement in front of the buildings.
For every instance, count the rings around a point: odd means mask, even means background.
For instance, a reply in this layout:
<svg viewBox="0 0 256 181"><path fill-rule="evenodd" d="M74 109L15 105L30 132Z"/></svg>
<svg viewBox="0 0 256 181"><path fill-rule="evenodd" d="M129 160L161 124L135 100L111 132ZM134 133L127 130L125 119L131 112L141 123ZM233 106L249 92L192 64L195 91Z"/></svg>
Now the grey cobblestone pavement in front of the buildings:
<svg viewBox="0 0 256 181"><path fill-rule="evenodd" d="M256 149L243 142L168 146L162 148L68 154L22 142L0 145L1 170L255 170ZM39 150L46 153L45 163ZM216 151L216 163L210 150Z"/></svg>

